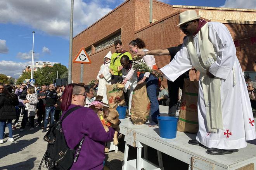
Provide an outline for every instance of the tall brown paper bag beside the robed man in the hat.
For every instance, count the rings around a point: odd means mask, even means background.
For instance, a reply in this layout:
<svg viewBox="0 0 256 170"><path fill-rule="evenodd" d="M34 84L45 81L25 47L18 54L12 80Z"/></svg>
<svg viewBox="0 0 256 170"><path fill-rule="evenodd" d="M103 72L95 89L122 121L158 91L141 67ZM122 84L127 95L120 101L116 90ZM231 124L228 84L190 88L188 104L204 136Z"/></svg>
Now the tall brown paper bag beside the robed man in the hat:
<svg viewBox="0 0 256 170"><path fill-rule="evenodd" d="M198 81L184 79L177 131L197 133Z"/></svg>

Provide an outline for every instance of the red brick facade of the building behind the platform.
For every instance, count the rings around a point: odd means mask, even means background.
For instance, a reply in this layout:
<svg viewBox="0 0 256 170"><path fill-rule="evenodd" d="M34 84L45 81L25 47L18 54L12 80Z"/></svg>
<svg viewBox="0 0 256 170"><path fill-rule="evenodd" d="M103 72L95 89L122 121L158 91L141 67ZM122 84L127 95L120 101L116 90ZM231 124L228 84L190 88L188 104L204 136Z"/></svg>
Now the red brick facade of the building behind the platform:
<svg viewBox="0 0 256 170"><path fill-rule="evenodd" d="M149 23L149 0L127 0L102 17L92 26L85 29L73 38L73 59L81 47L88 48L99 43L118 31L121 31L123 48L128 49L128 43L135 38L141 38L146 44L146 48L165 49L182 43L185 34L176 25L179 23L179 14L183 8L173 8L171 5L153 0L152 19L156 22ZM195 9L197 10L197 9ZM198 10L197 10L198 12ZM233 11L234 12L234 11ZM251 44L248 37L256 36L254 24L225 24L234 40L239 40L237 47L237 57L243 71L255 71L256 64L256 44ZM109 46L99 52L94 52L89 56L92 64L84 65L83 82L95 79L103 57L111 50L115 52L114 46ZM163 67L170 62L170 56L155 56L158 67ZM190 71L190 79L198 79L199 72ZM72 65L72 80L80 82L80 64ZM166 80L163 82L166 85Z"/></svg>

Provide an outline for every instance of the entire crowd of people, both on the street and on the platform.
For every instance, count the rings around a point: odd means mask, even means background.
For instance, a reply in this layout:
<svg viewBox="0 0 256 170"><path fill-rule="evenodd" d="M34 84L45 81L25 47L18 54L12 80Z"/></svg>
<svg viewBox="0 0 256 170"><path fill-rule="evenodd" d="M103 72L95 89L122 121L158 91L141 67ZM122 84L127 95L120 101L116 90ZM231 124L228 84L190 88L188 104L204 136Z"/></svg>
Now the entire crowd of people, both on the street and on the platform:
<svg viewBox="0 0 256 170"><path fill-rule="evenodd" d="M62 112L64 115L67 110L81 106L64 120L64 134L70 148L74 148L85 135L85 144L91 147L82 148L81 157L86 161L80 159L72 168L77 169L86 164L88 167L102 169L103 142L113 139L114 130L110 128L109 132L105 132L99 118L86 107L97 96L102 96L102 102L108 103L106 84L119 82L125 85L125 101L130 113L133 89L137 84L145 82L150 100L149 126L153 127L158 123L159 104L168 105L169 112L175 113L179 88L182 89L184 78L189 78L189 70L195 68L201 72L198 94L199 131L196 139L189 143L210 148L206 153L212 155L232 153L234 149L246 147L246 140L256 138L253 122L249 122L253 119L252 108L255 113L255 84L244 81L227 27L200 19L195 10L182 12L178 26L186 34L183 44L178 46L147 50L145 42L140 38L128 44L130 52L141 56L141 61L153 70L152 73L133 69L131 53L123 49L121 40L116 40L116 52L109 52L104 57L97 82L92 86L82 83L69 84L65 88L50 84L39 88L37 85L32 87L30 84L20 84L10 88L0 84L0 143L3 143L6 122L9 128L8 141L14 141L12 129L17 127L20 115L23 115L20 131L24 131L27 122L30 130L33 130L37 115L38 126L42 124L42 132L46 132L48 122L53 124ZM154 55L170 55L170 63L159 69ZM156 74L162 74L168 79L168 91ZM12 110L9 117L5 116L5 112L9 112L7 107ZM103 107L104 104L95 104L97 109ZM15 119L13 126L12 119ZM232 137L227 137L228 132L232 132ZM95 153L94 158L89 156L92 153Z"/></svg>

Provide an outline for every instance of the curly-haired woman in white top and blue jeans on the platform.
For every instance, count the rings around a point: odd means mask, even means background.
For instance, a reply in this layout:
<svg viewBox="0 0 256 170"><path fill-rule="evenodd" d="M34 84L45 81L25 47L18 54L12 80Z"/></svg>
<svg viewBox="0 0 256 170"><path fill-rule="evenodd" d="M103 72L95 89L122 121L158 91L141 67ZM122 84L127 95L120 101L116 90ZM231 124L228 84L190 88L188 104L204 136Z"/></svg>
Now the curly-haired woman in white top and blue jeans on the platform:
<svg viewBox="0 0 256 170"><path fill-rule="evenodd" d="M156 60L154 55L147 55L147 51L145 49L145 43L142 39L136 38L129 43L129 48L133 54L143 51L145 56L142 58L147 64L150 69L157 69ZM125 79L123 80L123 84L126 81L130 80L132 75L134 74L135 70L131 69L130 72L127 74ZM150 74L150 72L141 73L138 78L138 84L147 82L147 95L150 100L150 116L152 122L150 122L149 126L156 126L157 125L157 115L159 115L159 104L157 100L157 90L158 90L158 78L154 75Z"/></svg>

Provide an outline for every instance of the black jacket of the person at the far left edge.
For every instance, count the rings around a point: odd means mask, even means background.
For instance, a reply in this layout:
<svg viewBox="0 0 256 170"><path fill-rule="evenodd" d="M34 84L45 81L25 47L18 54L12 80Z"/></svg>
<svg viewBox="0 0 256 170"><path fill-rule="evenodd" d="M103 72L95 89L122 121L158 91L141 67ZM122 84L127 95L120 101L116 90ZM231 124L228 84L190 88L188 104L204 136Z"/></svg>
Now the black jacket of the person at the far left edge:
<svg viewBox="0 0 256 170"><path fill-rule="evenodd" d="M16 119L16 108L19 100L16 94L0 95L0 120Z"/></svg>

